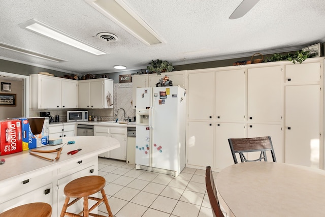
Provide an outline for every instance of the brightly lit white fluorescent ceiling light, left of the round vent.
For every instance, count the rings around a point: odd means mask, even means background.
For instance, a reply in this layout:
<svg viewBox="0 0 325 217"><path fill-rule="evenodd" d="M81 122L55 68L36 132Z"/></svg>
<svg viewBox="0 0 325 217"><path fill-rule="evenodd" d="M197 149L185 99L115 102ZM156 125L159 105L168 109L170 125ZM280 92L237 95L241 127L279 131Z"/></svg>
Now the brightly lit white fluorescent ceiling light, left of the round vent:
<svg viewBox="0 0 325 217"><path fill-rule="evenodd" d="M68 45L71 45L73 47L79 48L81 50L87 51L87 52L95 54L95 55L106 54L104 51L102 51L98 48L95 48L91 45L81 42L80 40L73 38L72 36L69 36L65 33L62 33L61 31L59 31L55 28L52 28L49 25L42 23L40 21L37 21L35 19L31 19L25 23L20 24L20 27L26 28L32 32L41 34L41 35L49 37L51 39L55 39L62 43L66 43Z"/></svg>

